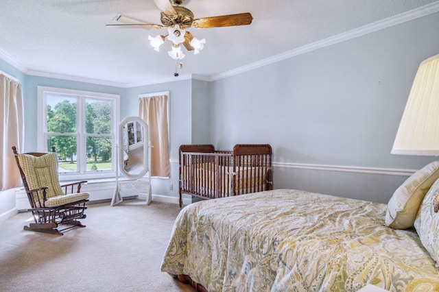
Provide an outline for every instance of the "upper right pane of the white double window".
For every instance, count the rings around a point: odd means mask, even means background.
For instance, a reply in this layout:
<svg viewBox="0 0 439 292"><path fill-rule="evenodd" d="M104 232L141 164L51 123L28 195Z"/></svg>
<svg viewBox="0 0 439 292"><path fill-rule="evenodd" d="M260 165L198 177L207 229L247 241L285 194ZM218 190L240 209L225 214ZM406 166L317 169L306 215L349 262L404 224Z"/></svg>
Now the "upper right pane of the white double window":
<svg viewBox="0 0 439 292"><path fill-rule="evenodd" d="M86 99L86 133L111 133L111 102Z"/></svg>

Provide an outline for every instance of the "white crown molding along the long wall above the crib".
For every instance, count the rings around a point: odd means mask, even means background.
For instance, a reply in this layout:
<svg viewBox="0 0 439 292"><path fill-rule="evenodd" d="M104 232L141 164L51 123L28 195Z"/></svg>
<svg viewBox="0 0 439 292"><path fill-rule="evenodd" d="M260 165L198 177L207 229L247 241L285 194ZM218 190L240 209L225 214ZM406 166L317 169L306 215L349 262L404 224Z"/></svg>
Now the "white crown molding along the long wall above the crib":
<svg viewBox="0 0 439 292"><path fill-rule="evenodd" d="M375 23L370 23L368 25L364 25L362 27L358 27L356 29L352 29L348 32L344 32L342 34L337 34L336 36L331 36L329 38L325 38L323 40L319 40L317 42L313 42L309 45L305 45L302 47L298 47L297 49L293 49L291 51L287 51L285 53L278 54L276 56L272 56L270 58L266 58L252 64L248 64L246 66L241 66L237 69L233 69L224 73L219 73L217 75L213 75L211 77L211 81L224 79L226 77L230 77L233 75L237 75L240 73L244 73L247 71L251 71L262 66L266 66L275 62L283 61L295 56L302 55L304 53L309 53L310 51L315 51L316 49L322 49L324 47L328 47L330 45L335 45L339 42L344 42L345 40L351 40L352 38L357 38L359 36L364 36L366 34L370 34L372 32L376 32L381 29L385 29L388 27L392 27L394 25L398 25L400 23L405 23L407 21L412 21L413 19L418 19L423 16L427 16L429 14L433 14L439 12L439 1L434 3L425 5L420 8L416 8L414 10L410 10L396 16L392 16L388 19L383 19L381 21L377 21Z"/></svg>

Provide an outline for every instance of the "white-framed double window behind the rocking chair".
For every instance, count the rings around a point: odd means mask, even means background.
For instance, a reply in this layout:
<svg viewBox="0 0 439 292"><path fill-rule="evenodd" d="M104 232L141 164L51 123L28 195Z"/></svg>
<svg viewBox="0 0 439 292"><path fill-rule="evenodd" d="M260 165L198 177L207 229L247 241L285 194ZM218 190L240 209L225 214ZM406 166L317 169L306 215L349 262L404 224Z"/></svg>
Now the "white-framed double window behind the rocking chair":
<svg viewBox="0 0 439 292"><path fill-rule="evenodd" d="M38 150L56 148L62 180L115 175L119 95L38 86Z"/></svg>

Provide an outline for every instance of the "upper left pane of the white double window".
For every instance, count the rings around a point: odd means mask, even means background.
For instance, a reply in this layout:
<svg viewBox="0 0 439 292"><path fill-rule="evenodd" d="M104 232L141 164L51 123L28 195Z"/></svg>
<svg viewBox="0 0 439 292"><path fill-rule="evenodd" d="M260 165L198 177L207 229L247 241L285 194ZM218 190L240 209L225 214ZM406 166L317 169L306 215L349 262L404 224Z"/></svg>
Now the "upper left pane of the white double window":
<svg viewBox="0 0 439 292"><path fill-rule="evenodd" d="M47 132L76 133L76 104L74 97L47 95Z"/></svg>

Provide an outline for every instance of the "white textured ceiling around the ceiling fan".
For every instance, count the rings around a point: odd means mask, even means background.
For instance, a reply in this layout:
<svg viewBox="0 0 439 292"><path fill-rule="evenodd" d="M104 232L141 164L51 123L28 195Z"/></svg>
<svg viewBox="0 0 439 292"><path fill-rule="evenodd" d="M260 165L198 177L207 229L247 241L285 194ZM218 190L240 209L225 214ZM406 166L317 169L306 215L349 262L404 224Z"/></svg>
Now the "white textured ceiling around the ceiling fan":
<svg viewBox="0 0 439 292"><path fill-rule="evenodd" d="M417 8L433 0L186 0L195 18L250 12L251 25L189 29L206 38L198 54L185 52L180 77L206 80ZM175 80L167 44L154 51L148 34L165 29L106 27L115 15L161 23L152 0L0 0L0 58L30 75L64 76L134 86Z"/></svg>

